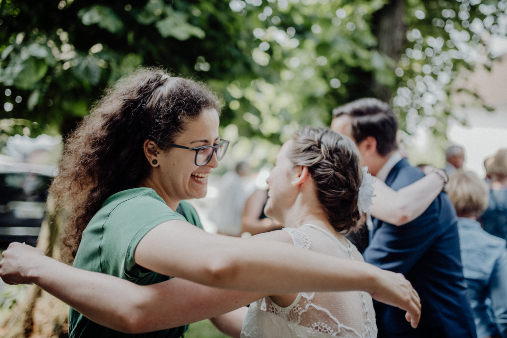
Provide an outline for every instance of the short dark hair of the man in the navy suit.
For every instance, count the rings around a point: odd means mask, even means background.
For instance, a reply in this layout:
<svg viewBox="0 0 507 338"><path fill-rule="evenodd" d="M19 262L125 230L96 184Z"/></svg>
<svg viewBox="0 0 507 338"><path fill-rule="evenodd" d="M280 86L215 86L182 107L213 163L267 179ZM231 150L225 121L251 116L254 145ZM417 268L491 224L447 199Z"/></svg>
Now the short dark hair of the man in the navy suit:
<svg viewBox="0 0 507 338"><path fill-rule="evenodd" d="M357 144L373 136L380 155L385 156L398 149L398 122L387 103L375 98L358 99L333 109L333 118L341 115L350 117L352 137Z"/></svg>

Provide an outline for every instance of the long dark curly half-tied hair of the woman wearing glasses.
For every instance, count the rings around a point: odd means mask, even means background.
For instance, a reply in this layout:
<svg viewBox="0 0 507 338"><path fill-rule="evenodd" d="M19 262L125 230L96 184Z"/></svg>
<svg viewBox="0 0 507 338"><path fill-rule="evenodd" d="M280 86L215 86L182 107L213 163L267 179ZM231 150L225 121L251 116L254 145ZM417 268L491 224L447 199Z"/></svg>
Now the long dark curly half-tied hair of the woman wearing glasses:
<svg viewBox="0 0 507 338"><path fill-rule="evenodd" d="M108 88L64 144L50 192L67 213L62 242L76 257L82 234L105 199L151 173L143 142L172 142L203 109L222 103L203 83L139 68Z"/></svg>

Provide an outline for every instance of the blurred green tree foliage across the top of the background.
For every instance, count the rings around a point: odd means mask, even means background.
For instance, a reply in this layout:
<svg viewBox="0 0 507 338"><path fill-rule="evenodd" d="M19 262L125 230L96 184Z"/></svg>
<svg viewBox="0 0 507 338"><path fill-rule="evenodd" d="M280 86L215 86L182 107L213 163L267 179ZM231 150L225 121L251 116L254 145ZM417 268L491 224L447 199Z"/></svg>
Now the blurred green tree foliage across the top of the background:
<svg viewBox="0 0 507 338"><path fill-rule="evenodd" d="M207 82L221 128L253 166L337 105L390 102L402 129L445 140L454 80L488 67L507 0L0 0L0 143L67 134L138 66ZM474 93L470 93L474 95ZM479 98L477 98L479 100ZM480 101L478 101L481 104ZM0 144L2 146L2 144Z"/></svg>

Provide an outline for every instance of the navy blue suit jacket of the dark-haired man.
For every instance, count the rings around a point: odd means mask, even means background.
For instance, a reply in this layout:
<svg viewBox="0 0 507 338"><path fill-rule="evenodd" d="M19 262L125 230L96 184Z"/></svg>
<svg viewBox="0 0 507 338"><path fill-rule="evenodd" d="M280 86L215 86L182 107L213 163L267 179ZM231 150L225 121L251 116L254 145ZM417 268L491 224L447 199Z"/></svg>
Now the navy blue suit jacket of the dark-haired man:
<svg viewBox="0 0 507 338"><path fill-rule="evenodd" d="M399 190L424 174L402 159L392 168L386 184ZM374 220L365 261L399 272L421 298L421 321L413 329L404 312L375 302L379 337L476 337L461 266L457 217L446 193L414 221L397 227Z"/></svg>

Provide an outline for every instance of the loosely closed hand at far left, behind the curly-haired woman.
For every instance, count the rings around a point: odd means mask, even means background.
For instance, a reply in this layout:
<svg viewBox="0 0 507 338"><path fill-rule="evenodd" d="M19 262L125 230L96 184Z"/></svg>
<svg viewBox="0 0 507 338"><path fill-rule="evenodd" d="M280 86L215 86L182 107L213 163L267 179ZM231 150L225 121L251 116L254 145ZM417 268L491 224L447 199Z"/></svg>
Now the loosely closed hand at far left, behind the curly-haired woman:
<svg viewBox="0 0 507 338"><path fill-rule="evenodd" d="M41 257L46 257L41 249L13 242L2 253L0 277L7 284L32 283L30 271L37 267L38 258Z"/></svg>

